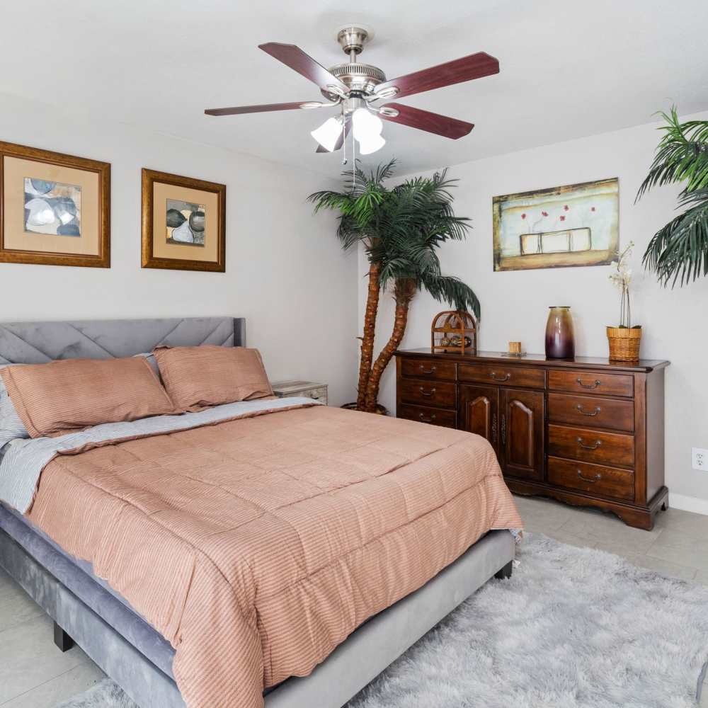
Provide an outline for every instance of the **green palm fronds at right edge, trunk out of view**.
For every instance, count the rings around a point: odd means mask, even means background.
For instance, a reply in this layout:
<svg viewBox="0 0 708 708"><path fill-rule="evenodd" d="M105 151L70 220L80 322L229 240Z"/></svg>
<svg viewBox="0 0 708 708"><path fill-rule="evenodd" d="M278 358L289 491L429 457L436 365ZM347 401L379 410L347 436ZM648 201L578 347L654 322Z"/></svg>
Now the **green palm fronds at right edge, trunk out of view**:
<svg viewBox="0 0 708 708"><path fill-rule="evenodd" d="M654 234L642 258L659 282L673 287L708 275L708 120L682 123L675 106L660 115L664 135L636 198L656 185L686 183L678 204L687 210Z"/></svg>

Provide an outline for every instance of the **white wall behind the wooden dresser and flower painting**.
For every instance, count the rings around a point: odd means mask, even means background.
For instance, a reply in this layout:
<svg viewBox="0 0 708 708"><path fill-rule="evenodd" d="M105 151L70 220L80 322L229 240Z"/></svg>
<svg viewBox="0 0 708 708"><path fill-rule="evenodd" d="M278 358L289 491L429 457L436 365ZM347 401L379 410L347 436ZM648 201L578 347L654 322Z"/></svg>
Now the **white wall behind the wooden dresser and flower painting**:
<svg viewBox="0 0 708 708"><path fill-rule="evenodd" d="M693 118L706 120L708 113ZM671 362L666 371L666 484L676 506L708 513L708 474L691 469L691 447L708 447L708 278L665 290L641 268L649 239L676 213L679 191L658 188L634 205L658 139L656 124L640 125L453 167L450 176L459 178L455 212L471 217L474 229L466 242L443 246L441 261L445 272L465 280L481 301L481 349L506 350L508 341L522 341L529 353L542 352L549 305L569 304L576 353L607 356L605 325L616 324L619 317L619 298L607 280L609 266L495 273L491 200L494 195L618 177L620 247L630 240L636 244L632 312L634 322L643 326L641 356ZM361 255L359 268L360 275L366 272ZM365 297L362 278L360 329ZM430 346L430 322L442 309L446 307L429 295L418 295L401 348ZM392 312L392 299L383 298L377 346L390 333ZM392 365L380 396L390 409L395 408L394 378Z"/></svg>

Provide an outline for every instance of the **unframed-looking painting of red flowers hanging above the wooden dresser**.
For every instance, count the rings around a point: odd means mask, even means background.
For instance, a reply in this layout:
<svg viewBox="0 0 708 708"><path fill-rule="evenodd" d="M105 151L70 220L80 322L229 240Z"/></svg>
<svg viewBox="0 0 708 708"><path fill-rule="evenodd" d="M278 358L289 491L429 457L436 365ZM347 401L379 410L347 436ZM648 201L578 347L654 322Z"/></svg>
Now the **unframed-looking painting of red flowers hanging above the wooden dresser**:
<svg viewBox="0 0 708 708"><path fill-rule="evenodd" d="M607 265L617 259L619 182L584 182L492 199L494 270Z"/></svg>

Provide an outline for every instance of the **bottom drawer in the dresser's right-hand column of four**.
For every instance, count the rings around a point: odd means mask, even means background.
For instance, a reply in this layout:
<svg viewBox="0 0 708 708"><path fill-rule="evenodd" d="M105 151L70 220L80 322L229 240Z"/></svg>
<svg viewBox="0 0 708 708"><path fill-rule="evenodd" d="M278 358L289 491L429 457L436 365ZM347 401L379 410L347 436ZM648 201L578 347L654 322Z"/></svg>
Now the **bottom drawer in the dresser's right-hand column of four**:
<svg viewBox="0 0 708 708"><path fill-rule="evenodd" d="M588 462L548 458L548 483L566 489L634 501L634 472Z"/></svg>

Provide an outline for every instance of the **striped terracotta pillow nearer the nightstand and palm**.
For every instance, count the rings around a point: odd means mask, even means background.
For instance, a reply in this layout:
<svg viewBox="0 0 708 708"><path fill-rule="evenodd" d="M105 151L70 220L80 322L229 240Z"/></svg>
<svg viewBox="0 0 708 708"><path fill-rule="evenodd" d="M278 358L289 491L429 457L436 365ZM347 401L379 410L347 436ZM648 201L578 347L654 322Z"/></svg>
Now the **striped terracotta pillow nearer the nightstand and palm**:
<svg viewBox="0 0 708 708"><path fill-rule="evenodd" d="M154 355L173 404L183 411L273 395L257 349L207 344L158 347Z"/></svg>

